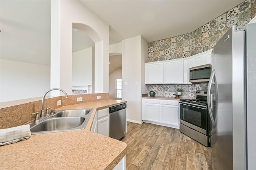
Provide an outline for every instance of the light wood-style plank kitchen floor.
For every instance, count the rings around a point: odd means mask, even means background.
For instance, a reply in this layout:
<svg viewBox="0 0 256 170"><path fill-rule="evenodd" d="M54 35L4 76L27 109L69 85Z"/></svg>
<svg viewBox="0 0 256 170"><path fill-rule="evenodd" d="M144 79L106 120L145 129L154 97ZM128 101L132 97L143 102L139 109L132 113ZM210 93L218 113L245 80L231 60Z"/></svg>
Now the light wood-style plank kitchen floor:
<svg viewBox="0 0 256 170"><path fill-rule="evenodd" d="M211 170L211 149L179 129L127 122L127 170Z"/></svg>

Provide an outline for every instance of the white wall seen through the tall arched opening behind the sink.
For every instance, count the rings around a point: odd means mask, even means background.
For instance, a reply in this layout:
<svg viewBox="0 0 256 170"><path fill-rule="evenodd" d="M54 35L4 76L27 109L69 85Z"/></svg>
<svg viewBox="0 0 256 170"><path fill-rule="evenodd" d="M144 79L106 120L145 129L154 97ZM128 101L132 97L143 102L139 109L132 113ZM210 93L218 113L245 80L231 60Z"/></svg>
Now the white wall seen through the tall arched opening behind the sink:
<svg viewBox="0 0 256 170"><path fill-rule="evenodd" d="M72 55L72 85L92 85L93 47Z"/></svg>

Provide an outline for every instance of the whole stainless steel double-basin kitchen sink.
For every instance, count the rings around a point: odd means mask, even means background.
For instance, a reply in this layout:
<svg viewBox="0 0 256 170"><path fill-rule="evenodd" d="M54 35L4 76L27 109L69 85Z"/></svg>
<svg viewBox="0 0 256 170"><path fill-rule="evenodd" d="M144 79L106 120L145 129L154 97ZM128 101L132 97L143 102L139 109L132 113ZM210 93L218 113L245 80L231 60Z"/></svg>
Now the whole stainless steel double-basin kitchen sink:
<svg viewBox="0 0 256 170"><path fill-rule="evenodd" d="M56 111L38 123L29 123L31 134L54 133L84 129L90 119L92 109Z"/></svg>

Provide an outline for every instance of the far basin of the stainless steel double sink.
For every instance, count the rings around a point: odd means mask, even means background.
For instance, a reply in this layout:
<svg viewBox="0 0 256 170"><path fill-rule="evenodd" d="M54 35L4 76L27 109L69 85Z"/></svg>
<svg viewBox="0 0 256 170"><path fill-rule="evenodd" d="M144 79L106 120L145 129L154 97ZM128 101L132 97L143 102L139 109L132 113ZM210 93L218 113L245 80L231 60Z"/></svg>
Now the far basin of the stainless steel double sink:
<svg viewBox="0 0 256 170"><path fill-rule="evenodd" d="M75 109L75 110L61 110L57 111L52 117L76 117L85 116L90 113L91 109Z"/></svg>

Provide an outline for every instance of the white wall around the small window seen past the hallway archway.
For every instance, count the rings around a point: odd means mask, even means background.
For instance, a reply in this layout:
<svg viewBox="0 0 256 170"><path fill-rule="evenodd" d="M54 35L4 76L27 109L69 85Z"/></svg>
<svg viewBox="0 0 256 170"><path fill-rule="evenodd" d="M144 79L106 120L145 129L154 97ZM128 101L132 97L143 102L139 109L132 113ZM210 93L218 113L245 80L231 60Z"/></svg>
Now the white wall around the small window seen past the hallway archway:
<svg viewBox="0 0 256 170"><path fill-rule="evenodd" d="M109 74L109 99L116 97L116 79L122 78L122 67L117 68Z"/></svg>

